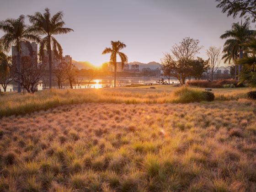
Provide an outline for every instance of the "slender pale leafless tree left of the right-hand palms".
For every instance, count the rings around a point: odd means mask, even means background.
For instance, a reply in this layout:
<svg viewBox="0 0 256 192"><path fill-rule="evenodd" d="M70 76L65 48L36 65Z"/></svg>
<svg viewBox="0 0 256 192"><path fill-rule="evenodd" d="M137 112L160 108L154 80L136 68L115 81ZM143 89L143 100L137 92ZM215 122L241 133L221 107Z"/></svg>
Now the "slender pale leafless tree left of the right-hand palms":
<svg viewBox="0 0 256 192"><path fill-rule="evenodd" d="M211 74L211 80L213 80L213 74L216 72L216 70L218 69L219 65L220 65L220 61L221 61L221 52L220 52L221 48L217 48L217 47L209 47L206 51L206 54L209 58L209 68L210 68L210 74Z"/></svg>

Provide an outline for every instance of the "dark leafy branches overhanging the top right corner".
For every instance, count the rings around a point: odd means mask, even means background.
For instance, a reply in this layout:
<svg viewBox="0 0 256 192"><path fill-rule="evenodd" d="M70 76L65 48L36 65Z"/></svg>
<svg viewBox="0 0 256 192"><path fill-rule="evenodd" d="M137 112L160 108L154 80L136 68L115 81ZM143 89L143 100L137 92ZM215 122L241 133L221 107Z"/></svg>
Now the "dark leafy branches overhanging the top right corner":
<svg viewBox="0 0 256 192"><path fill-rule="evenodd" d="M228 13L227 16L237 15L240 17L249 18L251 16L252 21L256 21L256 0L216 0L219 4L217 7L222 9L223 13Z"/></svg>

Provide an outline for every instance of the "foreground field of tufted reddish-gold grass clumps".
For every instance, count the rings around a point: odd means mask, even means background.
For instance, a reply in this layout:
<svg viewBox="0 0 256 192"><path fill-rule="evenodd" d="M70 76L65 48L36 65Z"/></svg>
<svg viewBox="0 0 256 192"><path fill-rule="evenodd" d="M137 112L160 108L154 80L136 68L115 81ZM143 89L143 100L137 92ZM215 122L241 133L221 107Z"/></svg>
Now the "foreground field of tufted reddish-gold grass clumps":
<svg viewBox="0 0 256 192"><path fill-rule="evenodd" d="M256 191L255 109L102 102L3 117L0 191Z"/></svg>

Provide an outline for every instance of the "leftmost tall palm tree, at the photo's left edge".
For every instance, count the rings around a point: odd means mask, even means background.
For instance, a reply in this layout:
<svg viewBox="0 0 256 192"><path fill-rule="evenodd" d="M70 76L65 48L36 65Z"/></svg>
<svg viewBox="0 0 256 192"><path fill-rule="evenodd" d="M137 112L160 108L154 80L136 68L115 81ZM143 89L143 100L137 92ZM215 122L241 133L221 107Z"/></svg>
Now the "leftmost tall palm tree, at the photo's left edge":
<svg viewBox="0 0 256 192"><path fill-rule="evenodd" d="M0 21L0 29L5 32L5 35L0 38L2 47L5 52L9 52L12 45L17 48L16 64L17 70L21 72L21 46L20 41L40 41L40 37L29 31L29 27L25 24L25 16L21 15L18 19L6 19ZM21 84L18 83L18 92L21 92Z"/></svg>

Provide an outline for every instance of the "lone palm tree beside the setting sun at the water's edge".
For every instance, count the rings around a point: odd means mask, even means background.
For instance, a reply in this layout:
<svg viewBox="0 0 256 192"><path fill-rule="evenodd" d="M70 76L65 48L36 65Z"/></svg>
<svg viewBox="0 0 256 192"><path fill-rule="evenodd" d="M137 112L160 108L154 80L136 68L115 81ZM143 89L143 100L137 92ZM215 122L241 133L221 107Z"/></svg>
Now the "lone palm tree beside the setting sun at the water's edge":
<svg viewBox="0 0 256 192"><path fill-rule="evenodd" d="M110 64L114 66L115 79L114 87L116 87L116 78L117 78L117 55L119 55L122 63L122 68L125 63L128 62L128 57L126 54L120 52L121 49L125 48L126 45L120 41L111 41L112 48L105 48L102 54L111 53L110 55Z"/></svg>

